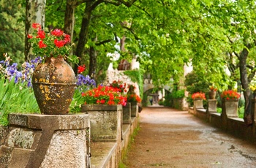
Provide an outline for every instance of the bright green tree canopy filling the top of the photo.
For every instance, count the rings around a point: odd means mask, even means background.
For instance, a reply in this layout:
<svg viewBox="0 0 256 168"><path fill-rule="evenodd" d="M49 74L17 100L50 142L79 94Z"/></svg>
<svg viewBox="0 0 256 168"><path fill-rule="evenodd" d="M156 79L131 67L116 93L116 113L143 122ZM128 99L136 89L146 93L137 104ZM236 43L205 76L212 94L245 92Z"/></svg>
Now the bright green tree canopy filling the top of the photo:
<svg viewBox="0 0 256 168"><path fill-rule="evenodd" d="M4 23L0 26L1 52L20 60L25 4L8 1L7 5L5 1L0 1ZM64 28L72 33L76 44L73 53L80 57L80 64L89 67L90 75L102 75L110 62L107 53L115 51L127 60L137 56L155 85L170 78L178 82L184 64L192 62L197 75L222 89L240 80L248 112L249 84L255 76L255 1L46 2L45 28Z"/></svg>

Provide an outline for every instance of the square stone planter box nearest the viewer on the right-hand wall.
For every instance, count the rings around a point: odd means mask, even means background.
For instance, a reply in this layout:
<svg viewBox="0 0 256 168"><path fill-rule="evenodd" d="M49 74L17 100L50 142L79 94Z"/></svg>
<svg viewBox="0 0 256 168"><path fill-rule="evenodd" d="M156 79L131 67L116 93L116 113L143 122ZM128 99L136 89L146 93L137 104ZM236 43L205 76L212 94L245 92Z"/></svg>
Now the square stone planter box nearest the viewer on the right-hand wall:
<svg viewBox="0 0 256 168"><path fill-rule="evenodd" d="M222 110L227 118L238 118L238 100L222 100Z"/></svg>

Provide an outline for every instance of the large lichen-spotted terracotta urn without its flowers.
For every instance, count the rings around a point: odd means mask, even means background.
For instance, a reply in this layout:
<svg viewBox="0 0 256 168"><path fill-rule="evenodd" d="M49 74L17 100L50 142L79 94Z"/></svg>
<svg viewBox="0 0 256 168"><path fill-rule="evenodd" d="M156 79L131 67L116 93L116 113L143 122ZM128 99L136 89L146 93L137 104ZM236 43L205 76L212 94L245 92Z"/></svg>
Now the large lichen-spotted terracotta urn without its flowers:
<svg viewBox="0 0 256 168"><path fill-rule="evenodd" d="M62 56L48 57L33 73L32 85L42 114L69 112L76 86L75 73Z"/></svg>

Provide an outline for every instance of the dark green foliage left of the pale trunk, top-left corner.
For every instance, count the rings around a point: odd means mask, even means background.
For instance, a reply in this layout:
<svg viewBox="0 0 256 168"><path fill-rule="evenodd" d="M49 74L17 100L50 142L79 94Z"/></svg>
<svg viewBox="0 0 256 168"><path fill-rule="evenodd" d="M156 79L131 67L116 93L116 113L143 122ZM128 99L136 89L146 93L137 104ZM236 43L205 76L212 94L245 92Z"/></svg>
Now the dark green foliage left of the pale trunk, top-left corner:
<svg viewBox="0 0 256 168"><path fill-rule="evenodd" d="M0 60L9 53L17 63L24 61L25 1L0 0Z"/></svg>

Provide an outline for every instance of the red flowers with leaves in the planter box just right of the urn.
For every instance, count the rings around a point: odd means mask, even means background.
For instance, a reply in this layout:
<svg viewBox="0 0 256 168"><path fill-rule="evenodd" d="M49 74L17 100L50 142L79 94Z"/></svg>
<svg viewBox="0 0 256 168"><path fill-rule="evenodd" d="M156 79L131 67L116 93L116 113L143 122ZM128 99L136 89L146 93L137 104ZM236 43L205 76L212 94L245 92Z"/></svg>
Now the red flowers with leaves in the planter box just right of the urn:
<svg viewBox="0 0 256 168"><path fill-rule="evenodd" d="M127 104L127 96L123 96L117 88L99 85L82 93L84 104Z"/></svg>

